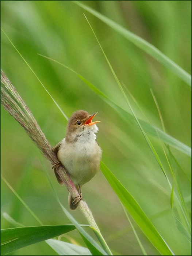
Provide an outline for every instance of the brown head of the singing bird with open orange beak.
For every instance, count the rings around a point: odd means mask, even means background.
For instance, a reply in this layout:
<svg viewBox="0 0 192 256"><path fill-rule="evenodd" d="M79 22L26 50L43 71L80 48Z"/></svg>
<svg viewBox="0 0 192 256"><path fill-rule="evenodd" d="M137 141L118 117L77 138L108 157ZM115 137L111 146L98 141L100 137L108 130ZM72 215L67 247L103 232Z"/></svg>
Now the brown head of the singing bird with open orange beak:
<svg viewBox="0 0 192 256"><path fill-rule="evenodd" d="M74 112L68 120L65 140L67 142L73 142L82 135L97 132L98 128L95 124L100 121L92 122L92 119L96 114L97 113L89 115L89 113L84 110Z"/></svg>

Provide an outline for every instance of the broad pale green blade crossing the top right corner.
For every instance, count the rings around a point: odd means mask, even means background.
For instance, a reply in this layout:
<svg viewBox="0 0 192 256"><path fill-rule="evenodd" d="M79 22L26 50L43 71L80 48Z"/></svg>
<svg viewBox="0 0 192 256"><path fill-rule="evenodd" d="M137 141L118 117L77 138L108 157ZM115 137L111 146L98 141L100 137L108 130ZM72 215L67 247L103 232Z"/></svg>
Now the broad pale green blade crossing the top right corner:
<svg viewBox="0 0 192 256"><path fill-rule="evenodd" d="M164 53L162 53L160 50L158 50L155 46L149 44L149 42L145 41L138 35L135 35L134 33L130 32L129 30L125 29L124 27L120 26L116 22L112 21L111 19L107 18L106 16L100 14L99 12L93 10L92 8L88 7L85 4L80 3L79 1L73 1L80 7L84 8L91 14L95 15L97 18L102 20L104 23L106 23L108 26L110 26L112 29L123 35L125 38L127 38L129 41L131 41L133 44L137 45L139 48L144 50L146 53L150 54L152 57L154 57L157 61L165 65L165 67L169 68L174 74L176 74L179 78L181 78L184 82L189 84L191 86L191 75L189 75L183 68L181 68L179 65L174 63L171 59L169 59Z"/></svg>

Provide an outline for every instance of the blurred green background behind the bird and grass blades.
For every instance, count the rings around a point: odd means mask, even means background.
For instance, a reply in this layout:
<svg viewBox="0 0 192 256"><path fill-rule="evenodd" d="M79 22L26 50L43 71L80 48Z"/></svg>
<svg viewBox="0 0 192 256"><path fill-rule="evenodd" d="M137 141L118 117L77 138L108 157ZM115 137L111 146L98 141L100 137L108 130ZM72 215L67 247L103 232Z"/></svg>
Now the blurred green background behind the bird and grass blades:
<svg viewBox="0 0 192 256"><path fill-rule="evenodd" d="M191 1L82 3L150 42L191 74ZM191 88L188 84L73 1L1 1L1 27L68 117L78 109L89 114L98 112L96 119L101 122L97 125L97 140L103 150L102 161L137 200L172 251L176 255L190 255L189 242L174 223L168 183L141 131L128 125L71 71L37 54L74 69L118 105L128 109L83 13L120 82L137 99L150 122L162 129L150 92L152 88L166 132L191 146ZM55 146L65 137L67 121L2 32L1 68L26 102L51 146ZM127 96L130 98L128 93ZM133 100L130 101L137 117L146 120ZM161 143L151 136L150 139L172 181ZM191 214L191 158L174 148L172 153L183 169L178 175ZM50 163L43 157L42 161L61 202L68 209L67 189L57 183ZM54 198L37 148L2 106L1 173L44 225L70 223ZM141 255L118 197L101 172L83 186L82 193L112 252ZM2 217L2 212L8 212L23 225L38 225L4 181L1 181L1 228L12 227ZM79 223L87 224L79 210L71 214ZM148 255L159 255L137 225L135 228ZM68 235L85 246L76 230ZM68 238L62 239L69 242ZM10 255L57 254L45 242L40 242Z"/></svg>

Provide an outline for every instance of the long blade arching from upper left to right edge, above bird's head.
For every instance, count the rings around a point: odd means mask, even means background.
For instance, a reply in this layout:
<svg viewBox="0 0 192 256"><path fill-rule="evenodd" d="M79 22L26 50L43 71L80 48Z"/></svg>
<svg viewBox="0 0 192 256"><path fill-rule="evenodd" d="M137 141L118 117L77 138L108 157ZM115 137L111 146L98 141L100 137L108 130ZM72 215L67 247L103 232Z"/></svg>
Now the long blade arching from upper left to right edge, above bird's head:
<svg viewBox="0 0 192 256"><path fill-rule="evenodd" d="M72 71L73 73L75 73L76 75L78 75L78 77L87 84L87 86L89 86L89 88L94 91L99 97L101 97L108 105L110 105L113 109L115 109L116 112L118 112L120 114L120 116L123 117L124 120L126 120L129 124L133 124L138 128L138 124L137 121L135 120L134 116L132 116L129 112L127 112L127 110L121 108L120 106L118 106L116 103L114 103L110 98L108 98L104 93L102 93L99 89L97 89L96 86L94 86L92 83L90 83L87 79L85 79L83 76L81 76L80 74L78 74L76 71L74 71L73 69L67 67L66 65L59 63L56 60L53 60L49 57L46 57L42 54L39 54L40 56L43 56L49 60L52 60L60 65L62 65L63 67L69 69L70 71ZM180 150L181 152L191 156L191 148L188 147L187 145L185 145L184 143L180 142L179 140L173 138L172 136L170 136L169 134L163 132L161 129L155 127L154 125L151 125L149 123L146 123L145 121L142 121L140 119L139 123L141 124L143 130L150 134L151 136L154 136L157 139L161 139L163 142L169 144L170 146L176 148L177 150Z"/></svg>

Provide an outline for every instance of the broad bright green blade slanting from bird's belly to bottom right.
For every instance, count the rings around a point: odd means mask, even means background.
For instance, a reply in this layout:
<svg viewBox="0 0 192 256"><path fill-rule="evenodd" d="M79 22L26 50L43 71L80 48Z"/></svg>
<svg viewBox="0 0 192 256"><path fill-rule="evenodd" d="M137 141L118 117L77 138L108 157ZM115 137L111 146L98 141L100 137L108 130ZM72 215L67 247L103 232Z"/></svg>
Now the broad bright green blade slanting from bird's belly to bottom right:
<svg viewBox="0 0 192 256"><path fill-rule="evenodd" d="M103 162L100 163L100 169L107 181L110 183L114 192L118 195L120 201L130 213L131 217L138 224L138 226L141 228L146 237L151 241L151 243L155 246L155 248L157 248L157 250L162 255L174 255L164 239L155 229L149 218L143 212L139 204L135 201L133 196L131 196L126 188L123 187L123 185L118 181L114 174L111 173L107 166L104 165Z"/></svg>

